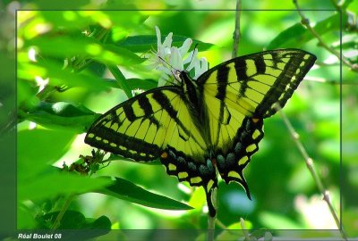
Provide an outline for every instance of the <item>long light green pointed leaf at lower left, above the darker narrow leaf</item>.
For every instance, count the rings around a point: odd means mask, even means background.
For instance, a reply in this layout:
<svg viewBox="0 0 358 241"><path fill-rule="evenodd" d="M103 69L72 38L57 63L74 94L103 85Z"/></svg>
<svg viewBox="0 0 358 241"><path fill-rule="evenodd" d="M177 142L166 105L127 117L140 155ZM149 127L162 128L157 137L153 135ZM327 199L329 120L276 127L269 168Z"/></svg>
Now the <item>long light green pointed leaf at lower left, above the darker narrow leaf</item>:
<svg viewBox="0 0 358 241"><path fill-rule="evenodd" d="M44 200L58 195L82 194L110 183L109 179L90 179L69 172L43 173L18 182L18 199Z"/></svg>

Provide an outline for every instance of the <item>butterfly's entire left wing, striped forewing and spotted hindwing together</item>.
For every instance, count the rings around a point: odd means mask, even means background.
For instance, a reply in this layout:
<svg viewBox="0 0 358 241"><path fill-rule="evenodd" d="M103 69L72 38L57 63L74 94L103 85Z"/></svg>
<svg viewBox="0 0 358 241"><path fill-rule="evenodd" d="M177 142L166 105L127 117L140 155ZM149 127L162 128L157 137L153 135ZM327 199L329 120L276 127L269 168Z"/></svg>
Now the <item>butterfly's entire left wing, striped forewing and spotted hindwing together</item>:
<svg viewBox="0 0 358 241"><path fill-rule="evenodd" d="M109 110L90 127L85 143L135 161L160 158L169 175L209 195L216 170L180 87L158 87Z"/></svg>

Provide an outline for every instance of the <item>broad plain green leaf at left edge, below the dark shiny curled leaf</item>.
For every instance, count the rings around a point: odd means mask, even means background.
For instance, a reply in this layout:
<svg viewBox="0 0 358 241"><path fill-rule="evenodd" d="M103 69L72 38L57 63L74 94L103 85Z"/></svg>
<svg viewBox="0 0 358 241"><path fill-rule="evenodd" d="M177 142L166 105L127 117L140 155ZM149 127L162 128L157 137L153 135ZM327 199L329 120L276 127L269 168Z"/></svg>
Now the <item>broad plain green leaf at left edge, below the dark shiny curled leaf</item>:
<svg viewBox="0 0 358 241"><path fill-rule="evenodd" d="M21 130L17 136L18 178L35 178L68 150L75 137L72 131Z"/></svg>

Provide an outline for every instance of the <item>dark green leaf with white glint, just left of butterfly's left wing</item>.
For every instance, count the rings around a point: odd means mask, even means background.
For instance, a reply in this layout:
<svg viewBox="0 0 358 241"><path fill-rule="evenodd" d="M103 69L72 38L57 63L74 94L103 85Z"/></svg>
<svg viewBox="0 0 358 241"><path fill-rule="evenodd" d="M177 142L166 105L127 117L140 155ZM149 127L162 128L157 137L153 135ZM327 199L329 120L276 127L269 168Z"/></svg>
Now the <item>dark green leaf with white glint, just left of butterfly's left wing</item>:
<svg viewBox="0 0 358 241"><path fill-rule="evenodd" d="M81 104L75 106L65 102L40 102L30 112L21 114L26 120L49 129L72 129L79 134L85 132L98 116Z"/></svg>

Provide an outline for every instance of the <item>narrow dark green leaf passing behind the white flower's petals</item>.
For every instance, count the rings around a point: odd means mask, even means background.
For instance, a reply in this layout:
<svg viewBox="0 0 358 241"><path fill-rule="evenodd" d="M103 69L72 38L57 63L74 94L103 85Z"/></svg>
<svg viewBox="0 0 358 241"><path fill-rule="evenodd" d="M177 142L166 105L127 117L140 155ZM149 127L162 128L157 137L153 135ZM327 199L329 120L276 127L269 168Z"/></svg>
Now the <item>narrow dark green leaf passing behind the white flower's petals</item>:
<svg viewBox="0 0 358 241"><path fill-rule="evenodd" d="M183 36L173 36L173 43L172 46L183 46L183 42L188 37ZM165 36L162 36L162 43L164 42ZM192 40L192 47L193 48L196 44L198 44L197 48L199 51L208 50L211 46L214 46L209 43L204 43L199 40ZM157 49L157 36L156 35L137 35L125 38L124 41L117 44L118 46L123 46L132 52L135 53L144 53L149 52L150 50Z"/></svg>

